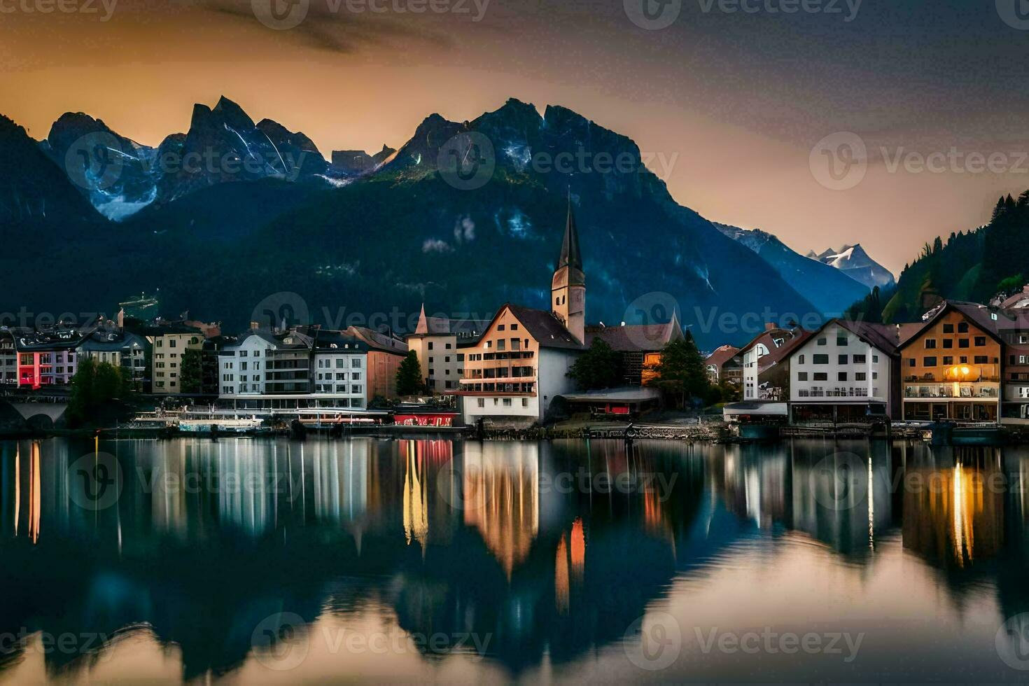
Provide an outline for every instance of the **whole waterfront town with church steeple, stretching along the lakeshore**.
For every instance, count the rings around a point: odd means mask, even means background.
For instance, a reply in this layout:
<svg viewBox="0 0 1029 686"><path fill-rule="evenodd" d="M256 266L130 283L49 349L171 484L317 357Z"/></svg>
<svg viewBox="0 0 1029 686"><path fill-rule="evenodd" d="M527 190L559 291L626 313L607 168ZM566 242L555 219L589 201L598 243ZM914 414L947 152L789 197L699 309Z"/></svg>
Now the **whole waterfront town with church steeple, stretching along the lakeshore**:
<svg viewBox="0 0 1029 686"><path fill-rule="evenodd" d="M667 322L587 323L570 204L551 293L549 311L508 302L491 320L431 317L423 305L407 335L286 322L253 322L229 335L217 322L149 316L158 303L144 294L119 303L115 320L86 328L0 327L0 390L60 393L92 359L118 368L126 388L158 406L253 418L315 411L380 421L383 408L421 403L436 426L517 430L575 413L631 421L662 409L662 358L669 346L693 346L688 328L675 312ZM619 357L620 383L579 388L574 365L598 344ZM417 393L398 388L409 359L419 370ZM728 424L1025 425L1029 286L989 304L944 300L903 324L833 318L806 330L769 322L703 365L712 387L728 389L715 408ZM694 409L703 409L700 400ZM403 417L425 423L417 412Z"/></svg>

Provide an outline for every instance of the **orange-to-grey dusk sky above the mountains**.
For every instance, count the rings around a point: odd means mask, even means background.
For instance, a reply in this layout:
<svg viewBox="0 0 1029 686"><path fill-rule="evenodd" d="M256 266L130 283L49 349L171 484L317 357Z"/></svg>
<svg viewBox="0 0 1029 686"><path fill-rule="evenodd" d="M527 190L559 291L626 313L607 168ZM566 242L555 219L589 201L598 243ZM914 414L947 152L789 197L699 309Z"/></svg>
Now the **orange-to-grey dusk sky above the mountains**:
<svg viewBox="0 0 1029 686"><path fill-rule="evenodd" d="M433 112L563 105L712 221L802 253L860 243L899 273L1029 189L1022 4L0 0L0 113L42 139L81 111L157 145L224 95L328 157L398 147Z"/></svg>

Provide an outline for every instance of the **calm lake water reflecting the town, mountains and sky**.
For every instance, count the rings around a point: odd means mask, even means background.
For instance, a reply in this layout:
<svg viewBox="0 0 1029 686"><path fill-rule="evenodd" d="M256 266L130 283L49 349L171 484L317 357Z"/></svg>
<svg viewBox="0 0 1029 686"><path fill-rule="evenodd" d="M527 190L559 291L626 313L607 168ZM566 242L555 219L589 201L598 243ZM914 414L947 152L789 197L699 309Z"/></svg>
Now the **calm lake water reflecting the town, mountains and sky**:
<svg viewBox="0 0 1029 686"><path fill-rule="evenodd" d="M1029 450L0 442L0 683L1024 681Z"/></svg>

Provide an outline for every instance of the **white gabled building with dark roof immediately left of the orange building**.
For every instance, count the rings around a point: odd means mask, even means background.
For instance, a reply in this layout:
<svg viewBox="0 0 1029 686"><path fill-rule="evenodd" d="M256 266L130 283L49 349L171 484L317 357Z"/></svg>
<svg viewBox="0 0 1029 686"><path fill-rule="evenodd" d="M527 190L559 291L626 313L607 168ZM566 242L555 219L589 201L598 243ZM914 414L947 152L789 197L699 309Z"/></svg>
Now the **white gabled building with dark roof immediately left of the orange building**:
<svg viewBox="0 0 1029 686"><path fill-rule="evenodd" d="M896 327L833 319L790 354L793 422L860 421L899 411Z"/></svg>

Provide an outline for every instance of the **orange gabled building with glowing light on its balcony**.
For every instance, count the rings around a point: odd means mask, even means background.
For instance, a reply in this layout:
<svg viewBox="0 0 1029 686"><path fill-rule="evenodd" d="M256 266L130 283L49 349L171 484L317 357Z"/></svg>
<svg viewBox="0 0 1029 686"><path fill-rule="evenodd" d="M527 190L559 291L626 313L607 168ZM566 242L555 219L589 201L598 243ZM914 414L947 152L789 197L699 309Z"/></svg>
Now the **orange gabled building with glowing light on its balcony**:
<svg viewBox="0 0 1029 686"><path fill-rule="evenodd" d="M900 345L903 419L996 422L1001 340L994 314L948 301Z"/></svg>

